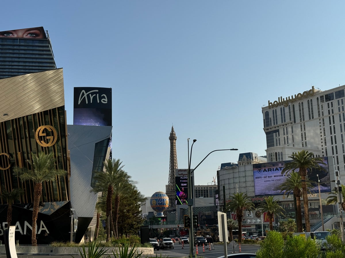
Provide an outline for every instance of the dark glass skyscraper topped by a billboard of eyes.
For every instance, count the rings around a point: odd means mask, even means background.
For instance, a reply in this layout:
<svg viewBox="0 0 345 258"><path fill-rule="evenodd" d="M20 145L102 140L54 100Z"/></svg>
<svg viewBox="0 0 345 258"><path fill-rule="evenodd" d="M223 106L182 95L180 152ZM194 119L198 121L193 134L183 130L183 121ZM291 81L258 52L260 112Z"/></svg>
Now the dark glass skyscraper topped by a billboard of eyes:
<svg viewBox="0 0 345 258"><path fill-rule="evenodd" d="M0 78L51 69L56 69L56 64L43 27L0 32Z"/></svg>

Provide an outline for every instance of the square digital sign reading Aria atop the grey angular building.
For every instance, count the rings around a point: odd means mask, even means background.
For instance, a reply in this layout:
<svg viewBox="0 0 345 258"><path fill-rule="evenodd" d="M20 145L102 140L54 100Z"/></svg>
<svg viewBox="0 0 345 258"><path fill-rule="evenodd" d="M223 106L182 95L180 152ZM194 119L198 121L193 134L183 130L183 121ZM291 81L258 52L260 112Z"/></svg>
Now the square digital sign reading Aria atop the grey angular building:
<svg viewBox="0 0 345 258"><path fill-rule="evenodd" d="M111 88L75 87L73 125L111 126Z"/></svg>

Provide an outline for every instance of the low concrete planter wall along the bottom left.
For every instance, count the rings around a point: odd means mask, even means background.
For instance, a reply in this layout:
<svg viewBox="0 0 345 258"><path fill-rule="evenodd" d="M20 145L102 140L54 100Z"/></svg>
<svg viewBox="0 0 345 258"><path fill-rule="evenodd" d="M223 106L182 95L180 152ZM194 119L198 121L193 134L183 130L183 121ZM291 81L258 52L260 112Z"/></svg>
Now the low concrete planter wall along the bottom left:
<svg viewBox="0 0 345 258"><path fill-rule="evenodd" d="M118 247L106 247L108 249L107 254L112 254L113 251L116 254ZM78 247L42 247L42 246L16 246L17 254L70 254L79 255ZM153 254L153 248L151 247L137 247L136 253L142 252L143 254ZM5 246L0 246L0 254L6 254Z"/></svg>

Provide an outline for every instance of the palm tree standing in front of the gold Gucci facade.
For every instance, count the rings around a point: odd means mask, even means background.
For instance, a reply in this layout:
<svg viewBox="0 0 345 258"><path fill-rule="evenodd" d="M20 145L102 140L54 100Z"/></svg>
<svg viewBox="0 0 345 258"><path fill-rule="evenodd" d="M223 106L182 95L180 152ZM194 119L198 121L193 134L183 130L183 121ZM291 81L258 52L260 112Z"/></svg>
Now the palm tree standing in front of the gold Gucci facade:
<svg viewBox="0 0 345 258"><path fill-rule="evenodd" d="M38 156L31 153L32 161L28 160L31 169L14 167L14 175L18 176L22 182L31 180L34 183L33 208L32 208L32 246L37 246L36 221L39 211L40 198L42 196L42 182L58 181L59 176L66 175L65 170L55 169L54 153L45 154L39 152Z"/></svg>

